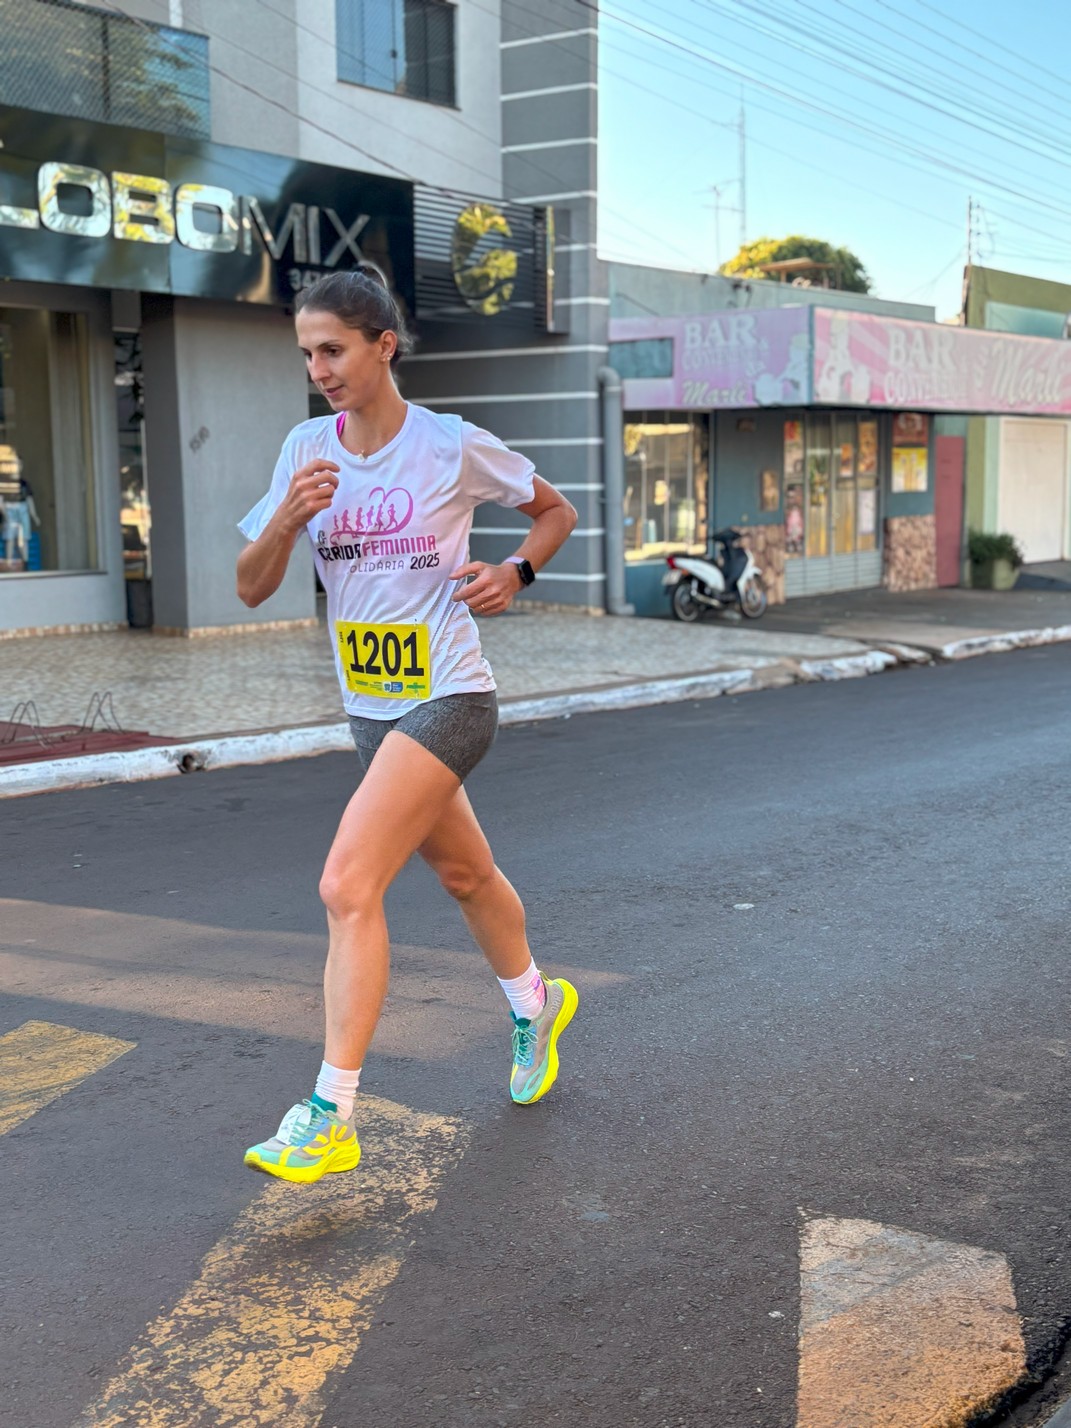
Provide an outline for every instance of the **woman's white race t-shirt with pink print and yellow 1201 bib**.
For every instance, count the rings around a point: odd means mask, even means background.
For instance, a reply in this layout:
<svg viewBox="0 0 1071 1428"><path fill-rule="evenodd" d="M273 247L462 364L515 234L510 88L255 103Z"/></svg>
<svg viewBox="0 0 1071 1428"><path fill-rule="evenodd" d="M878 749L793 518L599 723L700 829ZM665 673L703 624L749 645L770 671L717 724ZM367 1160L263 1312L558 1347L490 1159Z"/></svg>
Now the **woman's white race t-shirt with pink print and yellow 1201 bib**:
<svg viewBox="0 0 1071 1428"><path fill-rule="evenodd" d="M473 510L481 501L526 506L534 498L533 463L470 421L413 403L394 440L363 460L341 444L337 421L314 417L294 427L271 488L238 530L256 540L294 471L314 457L334 461L340 467L334 500L306 530L327 591L347 714L401 718L428 697L493 690L476 620L468 605L450 598L464 581L446 577L468 563ZM398 630L386 633L383 625ZM424 645L417 644L424 635L413 633L418 627L427 630L430 670L423 670ZM417 684L407 675L414 671L421 671L423 693L410 698Z"/></svg>

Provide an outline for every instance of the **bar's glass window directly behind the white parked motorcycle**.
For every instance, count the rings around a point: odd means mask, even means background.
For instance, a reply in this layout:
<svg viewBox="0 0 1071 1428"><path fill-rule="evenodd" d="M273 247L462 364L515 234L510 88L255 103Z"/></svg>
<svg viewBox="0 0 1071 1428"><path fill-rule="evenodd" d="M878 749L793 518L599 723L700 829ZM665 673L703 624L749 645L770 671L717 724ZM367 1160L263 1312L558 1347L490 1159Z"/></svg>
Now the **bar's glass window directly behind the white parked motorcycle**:
<svg viewBox="0 0 1071 1428"><path fill-rule="evenodd" d="M705 416L644 411L625 417L625 558L707 548Z"/></svg>

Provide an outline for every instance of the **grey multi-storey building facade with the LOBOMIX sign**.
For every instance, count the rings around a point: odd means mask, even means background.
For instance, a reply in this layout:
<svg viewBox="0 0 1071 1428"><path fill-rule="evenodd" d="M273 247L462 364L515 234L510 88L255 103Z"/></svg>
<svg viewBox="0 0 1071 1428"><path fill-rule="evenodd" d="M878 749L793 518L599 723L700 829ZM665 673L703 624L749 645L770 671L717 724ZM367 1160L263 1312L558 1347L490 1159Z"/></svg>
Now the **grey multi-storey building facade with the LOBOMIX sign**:
<svg viewBox="0 0 1071 1428"><path fill-rule="evenodd" d="M601 601L587 14L0 0L0 633L316 618L304 553L238 603L234 523L323 410L293 296L358 260L414 326L404 394L528 450L580 508L540 594ZM478 513L474 555L516 520Z"/></svg>

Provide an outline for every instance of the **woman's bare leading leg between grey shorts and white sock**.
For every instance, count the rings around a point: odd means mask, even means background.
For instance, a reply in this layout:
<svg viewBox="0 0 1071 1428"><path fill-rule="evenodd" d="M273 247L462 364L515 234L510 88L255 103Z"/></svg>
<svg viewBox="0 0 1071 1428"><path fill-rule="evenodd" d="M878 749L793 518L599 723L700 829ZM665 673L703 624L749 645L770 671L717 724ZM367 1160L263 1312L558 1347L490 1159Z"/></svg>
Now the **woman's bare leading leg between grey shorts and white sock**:
<svg viewBox="0 0 1071 1428"><path fill-rule="evenodd" d="M390 970L383 897L458 791L446 764L393 730L343 814L320 880L330 934L324 1060L331 1065L356 1071L364 1062Z"/></svg>

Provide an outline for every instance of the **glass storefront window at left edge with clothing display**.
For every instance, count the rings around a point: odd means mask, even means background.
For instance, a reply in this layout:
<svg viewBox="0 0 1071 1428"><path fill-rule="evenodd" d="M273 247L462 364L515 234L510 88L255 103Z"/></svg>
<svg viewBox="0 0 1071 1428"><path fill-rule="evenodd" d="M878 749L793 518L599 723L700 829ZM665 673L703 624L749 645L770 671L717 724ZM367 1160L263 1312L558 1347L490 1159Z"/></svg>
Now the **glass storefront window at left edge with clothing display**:
<svg viewBox="0 0 1071 1428"><path fill-rule="evenodd" d="M0 307L0 574L96 570L80 313Z"/></svg>

